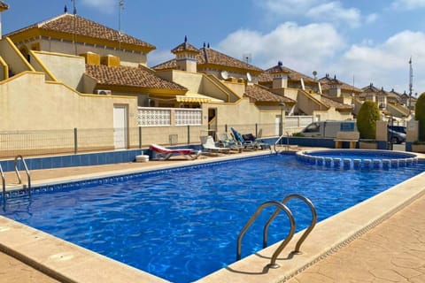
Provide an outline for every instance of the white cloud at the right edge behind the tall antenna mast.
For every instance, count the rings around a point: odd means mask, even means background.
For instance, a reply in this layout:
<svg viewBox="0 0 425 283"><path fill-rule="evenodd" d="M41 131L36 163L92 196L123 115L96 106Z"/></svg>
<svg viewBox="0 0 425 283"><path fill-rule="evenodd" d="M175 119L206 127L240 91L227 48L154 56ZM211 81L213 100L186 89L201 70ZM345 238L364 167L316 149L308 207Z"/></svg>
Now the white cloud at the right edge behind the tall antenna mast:
<svg viewBox="0 0 425 283"><path fill-rule="evenodd" d="M352 45L331 68L344 78L355 76L359 88L373 82L376 87L398 92L408 89L409 58L413 59L413 92L425 91L425 34L403 31L375 46Z"/></svg>

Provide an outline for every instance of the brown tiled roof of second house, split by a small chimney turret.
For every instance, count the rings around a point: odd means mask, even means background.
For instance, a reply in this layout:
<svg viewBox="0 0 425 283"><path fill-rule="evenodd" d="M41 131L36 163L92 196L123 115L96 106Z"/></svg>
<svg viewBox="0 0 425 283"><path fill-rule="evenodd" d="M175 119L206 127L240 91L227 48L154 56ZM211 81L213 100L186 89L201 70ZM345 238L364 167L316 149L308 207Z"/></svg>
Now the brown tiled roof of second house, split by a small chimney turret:
<svg viewBox="0 0 425 283"><path fill-rule="evenodd" d="M181 48L182 44L176 47L174 50ZM263 70L261 70L260 68L254 65L247 64L234 57L229 57L228 55L220 53L219 51L204 47L200 49L199 53L197 54L197 65L205 65L205 64L220 65L223 67L232 67L232 68L242 69L245 72L253 72L253 73L263 72ZM166 61L165 63L155 65L152 67L152 69L157 71L176 69L176 68L177 68L177 64L175 62L175 59Z"/></svg>

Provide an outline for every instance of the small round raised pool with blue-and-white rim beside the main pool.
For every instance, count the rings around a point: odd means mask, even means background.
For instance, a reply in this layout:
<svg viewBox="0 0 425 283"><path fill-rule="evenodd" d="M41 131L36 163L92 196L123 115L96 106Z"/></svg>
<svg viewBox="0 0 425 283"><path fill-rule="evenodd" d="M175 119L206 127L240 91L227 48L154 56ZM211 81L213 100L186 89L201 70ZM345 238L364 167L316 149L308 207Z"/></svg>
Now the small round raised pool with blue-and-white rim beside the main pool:
<svg viewBox="0 0 425 283"><path fill-rule="evenodd" d="M371 149L318 149L297 152L297 159L307 164L342 169L390 169L418 162L413 153Z"/></svg>

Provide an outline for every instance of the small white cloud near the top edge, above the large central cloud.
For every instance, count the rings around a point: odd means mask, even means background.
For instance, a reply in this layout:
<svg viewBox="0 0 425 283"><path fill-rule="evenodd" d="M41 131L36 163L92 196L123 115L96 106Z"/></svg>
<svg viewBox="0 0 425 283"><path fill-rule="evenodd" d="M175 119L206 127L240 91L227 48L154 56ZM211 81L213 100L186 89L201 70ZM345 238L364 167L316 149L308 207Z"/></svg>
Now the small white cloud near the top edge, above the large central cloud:
<svg viewBox="0 0 425 283"><path fill-rule="evenodd" d="M329 2L312 7L305 16L319 21L346 22L350 27L359 27L359 9L345 9L340 2Z"/></svg>

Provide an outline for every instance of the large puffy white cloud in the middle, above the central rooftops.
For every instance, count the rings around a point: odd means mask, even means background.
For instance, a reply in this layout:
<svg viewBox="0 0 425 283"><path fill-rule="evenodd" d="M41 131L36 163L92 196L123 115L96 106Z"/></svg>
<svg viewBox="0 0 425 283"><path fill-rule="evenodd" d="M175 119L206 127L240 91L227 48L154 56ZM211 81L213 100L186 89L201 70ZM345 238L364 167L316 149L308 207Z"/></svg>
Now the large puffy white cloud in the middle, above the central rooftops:
<svg viewBox="0 0 425 283"><path fill-rule="evenodd" d="M344 39L328 24L298 26L287 22L268 34L238 30L219 43L219 50L232 57L252 55L252 64L264 69L277 64L311 73L344 46Z"/></svg>

